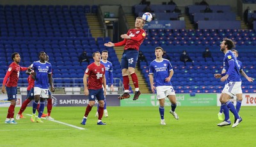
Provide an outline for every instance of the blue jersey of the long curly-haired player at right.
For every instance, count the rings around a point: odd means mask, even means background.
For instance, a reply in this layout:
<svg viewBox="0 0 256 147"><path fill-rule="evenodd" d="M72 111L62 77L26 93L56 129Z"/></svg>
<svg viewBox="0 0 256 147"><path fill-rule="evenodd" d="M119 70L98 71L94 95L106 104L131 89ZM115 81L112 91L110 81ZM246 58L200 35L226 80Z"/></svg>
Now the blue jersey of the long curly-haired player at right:
<svg viewBox="0 0 256 147"><path fill-rule="evenodd" d="M235 66L234 66L234 69L232 70L232 73L230 75L228 75L227 82L241 81L241 77L240 77L240 74L239 74L240 68L238 66L237 59L236 59L234 53L232 53L231 50L228 50L228 52L225 53L225 57L223 59L223 67L226 70L226 72L228 72L228 69L229 69L228 62L230 62L231 60L234 60Z"/></svg>

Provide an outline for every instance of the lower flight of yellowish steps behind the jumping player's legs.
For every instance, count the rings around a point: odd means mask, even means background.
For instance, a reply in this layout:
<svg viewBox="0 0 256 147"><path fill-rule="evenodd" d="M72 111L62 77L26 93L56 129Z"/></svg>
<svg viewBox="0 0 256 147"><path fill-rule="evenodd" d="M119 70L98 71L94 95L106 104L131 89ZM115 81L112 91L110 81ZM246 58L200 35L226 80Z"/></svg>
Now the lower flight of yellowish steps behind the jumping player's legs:
<svg viewBox="0 0 256 147"><path fill-rule="evenodd" d="M119 62L121 62L122 54L124 52L124 46L116 46L115 51L116 51L116 55L118 57ZM141 74L141 71L139 71L138 68L135 68L135 72L138 76L140 92L142 94L150 94L150 91L147 87L147 83L146 83L145 79L143 78L143 75ZM134 92L134 85L132 83L131 76L129 76L129 80L130 80L129 84L131 85L132 90Z"/></svg>

